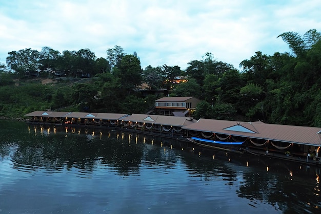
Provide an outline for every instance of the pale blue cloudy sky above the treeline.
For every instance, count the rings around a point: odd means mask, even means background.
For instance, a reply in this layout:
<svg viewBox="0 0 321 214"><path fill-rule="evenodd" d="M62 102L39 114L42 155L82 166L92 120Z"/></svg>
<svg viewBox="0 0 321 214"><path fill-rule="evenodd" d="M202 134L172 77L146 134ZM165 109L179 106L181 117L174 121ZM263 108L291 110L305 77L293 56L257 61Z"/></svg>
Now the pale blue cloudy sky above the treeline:
<svg viewBox="0 0 321 214"><path fill-rule="evenodd" d="M115 45L142 67L179 66L210 52L232 64L256 51L288 52L277 36L321 31L319 0L11 0L0 2L0 62L9 51L48 46L90 49L106 58Z"/></svg>

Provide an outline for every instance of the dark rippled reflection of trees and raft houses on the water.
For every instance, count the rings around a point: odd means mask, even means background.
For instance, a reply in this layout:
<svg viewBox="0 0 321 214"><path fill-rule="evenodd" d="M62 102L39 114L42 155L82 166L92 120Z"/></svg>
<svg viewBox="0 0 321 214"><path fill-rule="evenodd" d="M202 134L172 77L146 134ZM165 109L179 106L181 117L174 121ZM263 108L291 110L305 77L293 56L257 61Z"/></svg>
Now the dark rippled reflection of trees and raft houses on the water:
<svg viewBox="0 0 321 214"><path fill-rule="evenodd" d="M188 142L128 132L39 125L29 125L22 131L25 124L17 124L9 127L11 132L1 133L0 143L0 157L10 156L17 170L56 173L76 169L82 177L91 178L99 166L129 178L140 176L145 169L175 173L184 163L192 181L198 179L209 185L207 198L218 191L212 182L220 182L235 188L235 194L247 199L252 207L268 204L283 213L320 211L320 168L226 154ZM12 136L15 130L19 135Z"/></svg>

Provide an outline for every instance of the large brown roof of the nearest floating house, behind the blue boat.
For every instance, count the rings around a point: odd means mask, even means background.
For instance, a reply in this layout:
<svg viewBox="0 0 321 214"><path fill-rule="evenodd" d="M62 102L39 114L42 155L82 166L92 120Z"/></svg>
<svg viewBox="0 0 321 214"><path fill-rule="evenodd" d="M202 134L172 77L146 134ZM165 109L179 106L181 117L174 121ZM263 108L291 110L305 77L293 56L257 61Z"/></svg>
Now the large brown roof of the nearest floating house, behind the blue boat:
<svg viewBox="0 0 321 214"><path fill-rule="evenodd" d="M321 145L320 127L267 124L263 122L237 122L228 120L199 119L184 126L185 130L212 132L307 145Z"/></svg>

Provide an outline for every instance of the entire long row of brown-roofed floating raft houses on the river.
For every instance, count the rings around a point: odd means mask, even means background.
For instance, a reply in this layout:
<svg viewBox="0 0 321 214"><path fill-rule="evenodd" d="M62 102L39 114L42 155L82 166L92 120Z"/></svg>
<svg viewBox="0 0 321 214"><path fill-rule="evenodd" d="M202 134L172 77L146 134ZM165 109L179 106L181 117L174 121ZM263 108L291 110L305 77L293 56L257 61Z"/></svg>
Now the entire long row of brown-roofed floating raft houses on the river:
<svg viewBox="0 0 321 214"><path fill-rule="evenodd" d="M34 111L25 116L29 117L27 122L30 123L99 126L179 141L190 142L188 139L196 138L204 141L244 142L243 152L321 164L321 127L267 124L262 121L195 120L192 117L147 114ZM223 149L236 151L233 145Z"/></svg>

